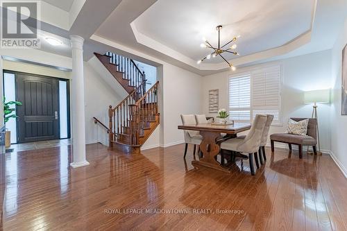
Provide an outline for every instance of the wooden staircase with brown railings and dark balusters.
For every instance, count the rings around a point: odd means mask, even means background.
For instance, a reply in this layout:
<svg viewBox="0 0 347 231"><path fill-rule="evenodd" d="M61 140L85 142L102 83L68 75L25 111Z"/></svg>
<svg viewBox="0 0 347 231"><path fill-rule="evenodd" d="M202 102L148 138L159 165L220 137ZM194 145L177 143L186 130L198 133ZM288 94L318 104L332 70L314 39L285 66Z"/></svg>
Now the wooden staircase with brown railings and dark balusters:
<svg viewBox="0 0 347 231"><path fill-rule="evenodd" d="M146 75L135 62L115 53L94 53L128 96L117 106L108 108L110 148L139 152L160 123L158 84L146 91Z"/></svg>

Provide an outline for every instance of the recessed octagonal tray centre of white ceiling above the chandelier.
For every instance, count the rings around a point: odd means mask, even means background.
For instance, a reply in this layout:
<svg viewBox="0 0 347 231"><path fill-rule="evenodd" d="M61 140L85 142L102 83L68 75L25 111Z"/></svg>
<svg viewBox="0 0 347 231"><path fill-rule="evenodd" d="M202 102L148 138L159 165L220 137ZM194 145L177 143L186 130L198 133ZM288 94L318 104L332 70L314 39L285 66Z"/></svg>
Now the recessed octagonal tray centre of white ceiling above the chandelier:
<svg viewBox="0 0 347 231"><path fill-rule="evenodd" d="M221 44L241 35L237 51L249 55L282 46L309 31L313 8L314 0L160 0L135 20L135 26L139 33L199 60L211 53L201 49L202 37L217 46L215 28L221 24Z"/></svg>

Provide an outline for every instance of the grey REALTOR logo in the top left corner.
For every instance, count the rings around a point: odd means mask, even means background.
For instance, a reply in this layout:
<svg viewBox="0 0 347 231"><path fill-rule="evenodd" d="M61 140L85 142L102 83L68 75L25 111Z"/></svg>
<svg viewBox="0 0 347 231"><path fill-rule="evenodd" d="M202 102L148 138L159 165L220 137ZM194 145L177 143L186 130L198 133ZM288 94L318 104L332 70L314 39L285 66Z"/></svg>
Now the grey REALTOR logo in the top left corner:
<svg viewBox="0 0 347 231"><path fill-rule="evenodd" d="M1 1L1 48L40 48L39 1Z"/></svg>

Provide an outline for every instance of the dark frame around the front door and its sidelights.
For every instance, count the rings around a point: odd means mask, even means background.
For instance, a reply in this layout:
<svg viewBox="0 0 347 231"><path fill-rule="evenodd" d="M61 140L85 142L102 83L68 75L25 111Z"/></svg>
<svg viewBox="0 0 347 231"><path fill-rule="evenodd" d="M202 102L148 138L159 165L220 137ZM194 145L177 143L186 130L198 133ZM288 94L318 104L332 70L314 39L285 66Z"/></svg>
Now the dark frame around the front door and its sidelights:
<svg viewBox="0 0 347 231"><path fill-rule="evenodd" d="M12 71L12 70L8 70L8 69L3 69L3 74L5 73L9 73L9 74L14 74L15 75L15 90L16 90L16 101L18 99L17 96L17 74L25 74L27 76L36 76L36 77L42 77L42 78L55 78L58 81L65 81L67 83L67 138L59 138L59 139L70 139L71 138L71 104L70 104L70 80L69 78L58 78L58 77L53 77L53 76L44 76L44 75L40 75L40 74L33 74L33 73L27 73L27 72L23 72L23 71ZM5 79L3 78L3 81ZM17 105L16 107L16 111L17 111ZM58 107L60 107L60 97L59 97L59 84L58 84ZM59 110L59 118L60 118L60 110ZM19 134L19 123L18 123L18 119L16 119L16 130L17 130L17 137L16 137L16 142L14 144L18 144L18 134ZM58 132L60 134L60 122L58 123Z"/></svg>

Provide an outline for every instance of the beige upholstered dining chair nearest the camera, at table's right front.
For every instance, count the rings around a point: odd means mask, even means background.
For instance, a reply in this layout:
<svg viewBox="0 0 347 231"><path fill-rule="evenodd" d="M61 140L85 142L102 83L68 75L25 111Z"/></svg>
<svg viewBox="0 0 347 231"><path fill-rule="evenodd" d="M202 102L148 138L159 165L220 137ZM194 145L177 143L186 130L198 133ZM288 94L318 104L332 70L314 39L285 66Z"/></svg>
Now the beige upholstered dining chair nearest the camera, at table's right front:
<svg viewBox="0 0 347 231"><path fill-rule="evenodd" d="M251 130L249 130L244 139L228 139L226 142L221 143L222 149L239 153L248 153L249 167L252 175L255 175L253 157L257 167L259 167L257 151L260 148L260 142L262 141L262 133L265 128L266 120L266 115L257 114L251 126Z"/></svg>

